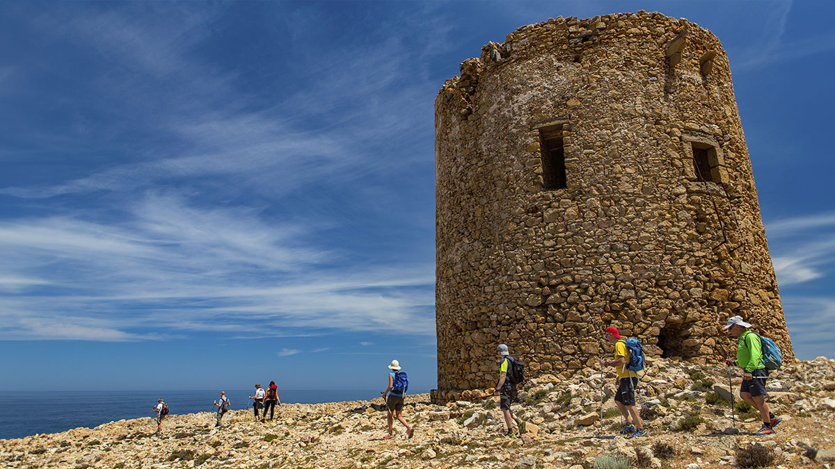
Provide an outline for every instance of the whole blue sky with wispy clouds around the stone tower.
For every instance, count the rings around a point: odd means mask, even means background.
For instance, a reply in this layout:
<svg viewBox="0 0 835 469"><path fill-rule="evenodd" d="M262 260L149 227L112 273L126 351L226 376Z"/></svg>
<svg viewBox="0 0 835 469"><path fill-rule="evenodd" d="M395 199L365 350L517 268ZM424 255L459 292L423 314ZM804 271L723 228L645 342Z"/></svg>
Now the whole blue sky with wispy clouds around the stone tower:
<svg viewBox="0 0 835 469"><path fill-rule="evenodd" d="M638 9L721 39L795 350L832 356L832 2L3 2L0 390L432 388L438 88Z"/></svg>

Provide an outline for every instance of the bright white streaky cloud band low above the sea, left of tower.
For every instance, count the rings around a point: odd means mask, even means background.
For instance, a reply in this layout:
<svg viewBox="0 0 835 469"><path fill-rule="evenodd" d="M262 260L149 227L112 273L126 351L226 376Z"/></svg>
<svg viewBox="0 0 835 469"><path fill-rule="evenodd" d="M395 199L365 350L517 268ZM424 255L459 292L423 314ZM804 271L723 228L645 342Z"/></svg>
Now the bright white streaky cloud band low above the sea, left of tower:
<svg viewBox="0 0 835 469"><path fill-rule="evenodd" d="M171 196L102 224L72 216L0 222L0 338L139 340L197 332L309 335L316 330L433 333L433 267L337 261L306 245L316 229L249 208L198 209ZM78 317L73 324L71 315ZM83 323L89 320L89 324ZM110 332L91 325L109 324ZM92 328L91 328L92 327ZM84 333L87 330L89 333ZM319 332L321 333L321 332Z"/></svg>

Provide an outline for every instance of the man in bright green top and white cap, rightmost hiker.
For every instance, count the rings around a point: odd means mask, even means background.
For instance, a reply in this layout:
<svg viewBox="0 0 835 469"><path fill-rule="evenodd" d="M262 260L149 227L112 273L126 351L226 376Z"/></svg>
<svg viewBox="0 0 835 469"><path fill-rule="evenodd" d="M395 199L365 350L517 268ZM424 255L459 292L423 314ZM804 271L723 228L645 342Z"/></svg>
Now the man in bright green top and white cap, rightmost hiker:
<svg viewBox="0 0 835 469"><path fill-rule="evenodd" d="M760 336L748 330L750 324L742 320L742 316L728 318L725 329L734 337L739 337L736 345L736 361L731 357L727 358L728 366L736 363L742 369L742 385L739 388L739 396L751 407L760 411L762 427L754 435L774 435L774 426L782 421L772 414L766 402L766 380L768 370L763 362L762 340ZM731 390L733 392L733 390Z"/></svg>

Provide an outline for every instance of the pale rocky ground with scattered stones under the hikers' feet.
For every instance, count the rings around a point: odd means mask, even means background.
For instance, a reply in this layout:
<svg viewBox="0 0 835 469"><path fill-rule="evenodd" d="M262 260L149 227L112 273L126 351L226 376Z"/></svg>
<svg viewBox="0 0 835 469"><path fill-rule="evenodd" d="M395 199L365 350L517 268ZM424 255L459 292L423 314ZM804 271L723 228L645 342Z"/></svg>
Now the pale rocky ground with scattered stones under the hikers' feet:
<svg viewBox="0 0 835 469"><path fill-rule="evenodd" d="M783 418L775 436L752 436L759 418L742 408L734 412L741 432L725 433L733 426L730 402L722 399L731 396L726 368L655 359L639 397L650 434L635 439L619 433L615 376L603 379L600 421L600 371L587 369L570 381L530 380L514 406L526 422L515 438L503 435L498 399L436 406L428 395L414 395L403 411L416 428L412 439L397 424L396 437L383 440L386 411L379 399L290 404L266 423L250 411L231 411L220 429L213 414L200 413L168 416L161 435L154 434L153 419L142 418L0 440L0 467L695 469L740 466L739 451L752 449L773 456L768 466L835 466L835 360L798 361L774 375L783 377L768 383L772 410Z"/></svg>

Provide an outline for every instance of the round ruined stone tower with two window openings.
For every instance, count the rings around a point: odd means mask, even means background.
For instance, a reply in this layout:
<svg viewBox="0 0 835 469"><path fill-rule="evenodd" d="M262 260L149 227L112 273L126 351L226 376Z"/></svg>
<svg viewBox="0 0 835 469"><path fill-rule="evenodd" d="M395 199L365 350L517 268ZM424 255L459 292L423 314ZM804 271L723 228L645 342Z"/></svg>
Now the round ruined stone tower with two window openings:
<svg viewBox="0 0 835 469"><path fill-rule="evenodd" d="M435 100L438 390L596 368L608 325L720 361L743 315L793 358L719 39L660 13L488 43ZM605 348L610 353L610 347Z"/></svg>

